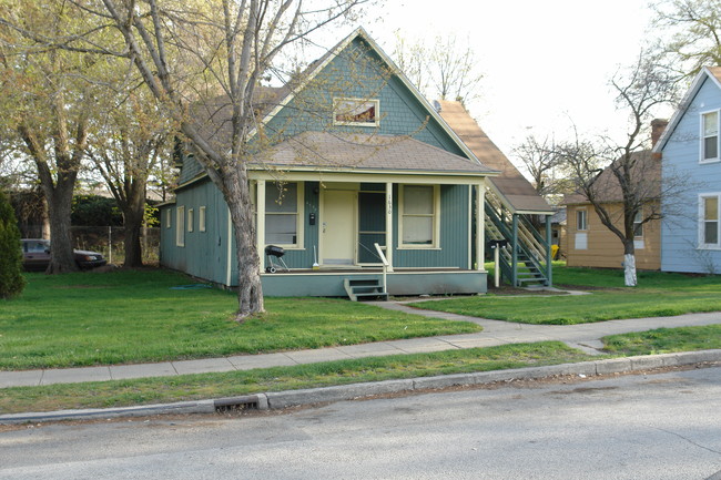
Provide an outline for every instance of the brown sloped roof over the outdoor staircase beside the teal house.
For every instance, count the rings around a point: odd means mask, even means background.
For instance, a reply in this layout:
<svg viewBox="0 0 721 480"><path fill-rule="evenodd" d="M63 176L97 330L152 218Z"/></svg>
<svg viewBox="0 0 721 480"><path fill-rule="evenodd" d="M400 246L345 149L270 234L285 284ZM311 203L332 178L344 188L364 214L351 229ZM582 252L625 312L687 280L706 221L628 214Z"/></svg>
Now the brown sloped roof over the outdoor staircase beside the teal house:
<svg viewBox="0 0 721 480"><path fill-rule="evenodd" d="M489 168L500 171L499 176L489 180L516 211L554 211L486 135L460 102L439 100L438 103L440 104L440 116L470 149L480 163Z"/></svg>

